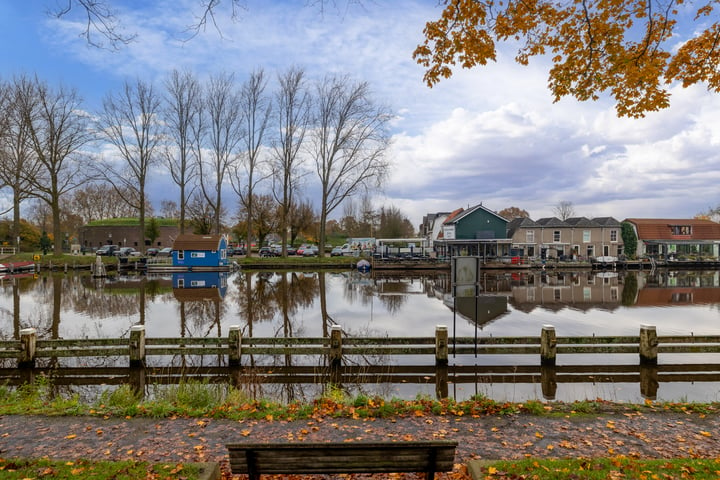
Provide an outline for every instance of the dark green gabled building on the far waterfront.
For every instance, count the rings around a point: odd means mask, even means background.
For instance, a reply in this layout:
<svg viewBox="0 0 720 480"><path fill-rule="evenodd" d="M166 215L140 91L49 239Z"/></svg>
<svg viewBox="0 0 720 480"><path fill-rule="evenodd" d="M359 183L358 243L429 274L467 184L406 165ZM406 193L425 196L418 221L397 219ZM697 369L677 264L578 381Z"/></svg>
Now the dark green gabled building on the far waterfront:
<svg viewBox="0 0 720 480"><path fill-rule="evenodd" d="M498 256L510 254L508 221L482 205L452 212L434 241L436 250L447 256Z"/></svg>

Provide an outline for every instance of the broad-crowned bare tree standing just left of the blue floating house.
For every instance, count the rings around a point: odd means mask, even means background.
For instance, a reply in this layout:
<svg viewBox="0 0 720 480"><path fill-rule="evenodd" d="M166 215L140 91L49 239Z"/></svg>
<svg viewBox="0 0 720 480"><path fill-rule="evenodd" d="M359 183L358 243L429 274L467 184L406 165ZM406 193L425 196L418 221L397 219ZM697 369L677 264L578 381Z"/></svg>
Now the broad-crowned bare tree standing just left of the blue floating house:
<svg viewBox="0 0 720 480"><path fill-rule="evenodd" d="M145 238L146 186L150 168L157 161L156 149L161 140L160 98L152 84L136 80L125 82L118 95L108 94L98 117L101 136L115 148L124 164L106 165L105 178L115 187L125 203L138 212L138 236ZM145 250L145 242L141 245Z"/></svg>

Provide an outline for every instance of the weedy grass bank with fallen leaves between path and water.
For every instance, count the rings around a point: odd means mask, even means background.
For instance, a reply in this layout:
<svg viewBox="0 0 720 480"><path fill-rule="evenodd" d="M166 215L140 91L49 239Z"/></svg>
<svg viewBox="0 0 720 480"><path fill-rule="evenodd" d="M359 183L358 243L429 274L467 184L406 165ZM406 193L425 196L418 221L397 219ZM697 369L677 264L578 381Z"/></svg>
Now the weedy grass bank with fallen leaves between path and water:
<svg viewBox="0 0 720 480"><path fill-rule="evenodd" d="M720 412L718 403L626 404L603 400L572 403L498 402L483 395L469 400L437 400L417 397L406 400L366 395L349 396L328 387L324 396L308 402L280 403L252 399L229 385L189 381L179 385L153 385L152 400L141 398L128 385L103 392L94 403L83 403L77 395L56 394L50 380L38 377L35 383L18 388L0 386L0 415L96 415L167 418L174 416L245 419L295 420L316 415L381 418L393 416L486 416L486 415L595 415L622 412L682 412L710 414Z"/></svg>

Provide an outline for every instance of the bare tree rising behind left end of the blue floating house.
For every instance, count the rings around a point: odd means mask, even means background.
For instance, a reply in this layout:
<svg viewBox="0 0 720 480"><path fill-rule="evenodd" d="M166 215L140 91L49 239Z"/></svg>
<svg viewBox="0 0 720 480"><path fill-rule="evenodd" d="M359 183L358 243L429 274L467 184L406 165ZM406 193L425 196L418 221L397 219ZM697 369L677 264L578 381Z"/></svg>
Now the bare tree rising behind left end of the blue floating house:
<svg viewBox="0 0 720 480"><path fill-rule="evenodd" d="M180 188L180 233L185 233L187 203L193 193L195 163L192 161L193 133L201 121L202 88L197 78L189 72L173 70L165 81L165 108L163 117L174 145L164 151L170 176Z"/></svg>

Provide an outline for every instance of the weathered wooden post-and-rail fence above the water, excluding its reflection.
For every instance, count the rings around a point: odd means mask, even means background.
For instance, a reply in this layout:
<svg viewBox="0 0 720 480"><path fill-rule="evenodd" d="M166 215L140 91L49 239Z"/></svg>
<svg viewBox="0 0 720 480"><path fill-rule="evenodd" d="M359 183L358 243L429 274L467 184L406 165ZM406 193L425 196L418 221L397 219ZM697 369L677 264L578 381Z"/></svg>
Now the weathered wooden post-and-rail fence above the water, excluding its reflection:
<svg viewBox="0 0 720 480"><path fill-rule="evenodd" d="M17 359L18 366L34 367L41 358L128 357L130 366L143 366L148 357L214 355L239 366L255 356L323 356L338 367L358 356L425 356L447 365L450 355L539 355L541 365L555 365L564 354L638 354L641 365L657 364L659 354L720 353L720 336L658 336L654 326L642 325L638 336L558 337L545 325L539 337L448 337L438 326L434 337L344 337L334 326L330 337L242 337L232 326L227 337L146 338L144 326L131 328L129 338L38 339L35 329L24 329L18 340L0 341L0 358Z"/></svg>

